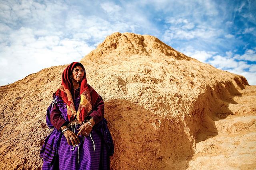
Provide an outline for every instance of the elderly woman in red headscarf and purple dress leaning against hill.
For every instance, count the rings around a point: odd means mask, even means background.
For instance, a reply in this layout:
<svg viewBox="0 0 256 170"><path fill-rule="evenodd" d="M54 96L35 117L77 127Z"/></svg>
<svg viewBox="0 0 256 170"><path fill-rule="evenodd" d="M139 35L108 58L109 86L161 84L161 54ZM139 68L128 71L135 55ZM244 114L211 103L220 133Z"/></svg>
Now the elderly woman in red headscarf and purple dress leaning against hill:
<svg viewBox="0 0 256 170"><path fill-rule="evenodd" d="M84 66L71 63L47 110L54 129L40 150L42 170L109 169L114 145L103 116L104 102L87 84Z"/></svg>

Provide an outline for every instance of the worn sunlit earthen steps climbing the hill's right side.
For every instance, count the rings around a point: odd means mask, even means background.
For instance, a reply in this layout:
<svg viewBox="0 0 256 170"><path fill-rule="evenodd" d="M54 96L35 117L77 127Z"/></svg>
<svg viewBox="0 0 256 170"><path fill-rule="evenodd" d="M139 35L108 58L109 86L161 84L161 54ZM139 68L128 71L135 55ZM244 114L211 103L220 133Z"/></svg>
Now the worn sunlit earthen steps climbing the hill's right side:
<svg viewBox="0 0 256 170"><path fill-rule="evenodd" d="M187 169L256 169L256 86L246 86L232 100L232 113L215 121L218 133L198 134Z"/></svg>

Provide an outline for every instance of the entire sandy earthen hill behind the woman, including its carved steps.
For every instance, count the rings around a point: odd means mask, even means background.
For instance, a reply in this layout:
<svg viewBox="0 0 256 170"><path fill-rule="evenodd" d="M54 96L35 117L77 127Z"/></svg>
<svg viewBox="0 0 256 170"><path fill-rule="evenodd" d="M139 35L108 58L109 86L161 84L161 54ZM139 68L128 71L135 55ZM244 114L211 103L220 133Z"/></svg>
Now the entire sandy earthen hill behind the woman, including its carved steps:
<svg viewBox="0 0 256 170"><path fill-rule="evenodd" d="M150 35L114 33L85 56L105 101L112 169L255 169L256 86ZM65 66L0 87L0 169L36 169Z"/></svg>

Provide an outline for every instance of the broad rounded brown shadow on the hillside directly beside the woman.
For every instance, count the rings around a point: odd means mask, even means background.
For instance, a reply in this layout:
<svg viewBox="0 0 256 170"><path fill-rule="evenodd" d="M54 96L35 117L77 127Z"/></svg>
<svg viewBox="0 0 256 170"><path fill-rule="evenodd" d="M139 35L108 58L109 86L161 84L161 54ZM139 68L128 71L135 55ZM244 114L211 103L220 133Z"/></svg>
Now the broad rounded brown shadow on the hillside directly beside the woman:
<svg viewBox="0 0 256 170"><path fill-rule="evenodd" d="M128 100L105 102L105 109L115 144L112 169L172 169L194 153L179 118L163 119Z"/></svg>

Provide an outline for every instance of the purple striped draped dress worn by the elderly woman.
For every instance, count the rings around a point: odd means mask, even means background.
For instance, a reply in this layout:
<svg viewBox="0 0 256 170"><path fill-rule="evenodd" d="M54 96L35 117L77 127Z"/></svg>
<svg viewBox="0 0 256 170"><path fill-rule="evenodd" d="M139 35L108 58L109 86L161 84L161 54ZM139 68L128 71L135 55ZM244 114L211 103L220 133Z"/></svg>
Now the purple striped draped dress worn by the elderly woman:
<svg viewBox="0 0 256 170"><path fill-rule="evenodd" d="M101 97L100 97L101 98ZM80 96L74 99L76 110L80 103ZM114 144L107 127L106 119L94 125L91 137L79 135L80 143L73 147L68 145L64 135L50 122L53 106L57 104L62 117L68 122L67 107L63 100L54 96L52 104L48 107L46 123L53 131L46 137L40 150L43 159L42 170L108 170L110 169L110 156L114 154ZM76 134L80 125L73 125L70 130ZM94 150L95 149L95 150Z"/></svg>

